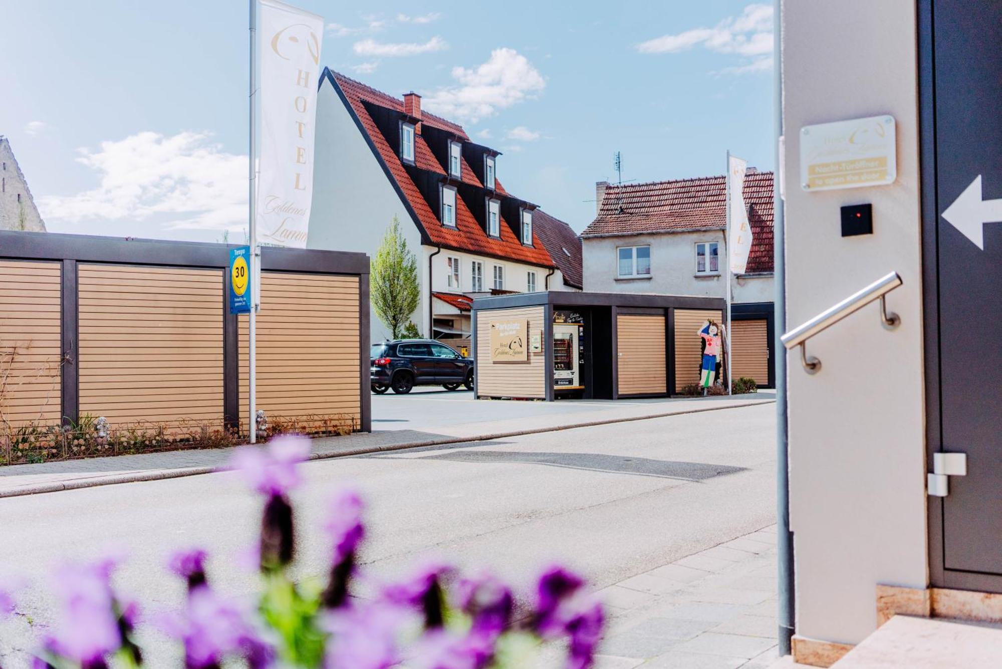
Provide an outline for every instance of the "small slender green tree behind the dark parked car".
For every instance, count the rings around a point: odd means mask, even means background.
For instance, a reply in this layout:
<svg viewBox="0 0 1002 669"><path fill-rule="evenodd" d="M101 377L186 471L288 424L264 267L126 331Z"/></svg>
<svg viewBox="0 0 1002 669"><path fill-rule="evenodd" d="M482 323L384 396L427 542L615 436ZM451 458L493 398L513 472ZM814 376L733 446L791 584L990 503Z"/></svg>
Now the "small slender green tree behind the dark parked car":
<svg viewBox="0 0 1002 669"><path fill-rule="evenodd" d="M376 315L390 328L393 339L398 340L418 308L421 293L418 258L407 247L397 216L393 217L376 251L370 279Z"/></svg>

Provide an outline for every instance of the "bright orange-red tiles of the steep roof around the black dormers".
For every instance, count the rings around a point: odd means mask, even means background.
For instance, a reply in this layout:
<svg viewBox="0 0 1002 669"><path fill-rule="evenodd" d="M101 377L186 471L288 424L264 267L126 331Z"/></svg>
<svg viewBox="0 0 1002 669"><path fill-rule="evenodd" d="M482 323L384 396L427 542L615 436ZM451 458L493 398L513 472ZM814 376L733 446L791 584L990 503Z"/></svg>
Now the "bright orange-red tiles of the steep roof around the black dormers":
<svg viewBox="0 0 1002 669"><path fill-rule="evenodd" d="M443 225L428 205L427 200L422 196L414 180L407 173L407 169L404 167L403 162L401 162L400 156L397 155L397 151L387 142L386 137L383 136L383 133L380 132L379 127L376 125L376 121L373 120L373 117L363 104L363 102L368 102L370 104L389 107L403 113L403 100L366 86L343 74L333 71L332 74L338 86L345 94L345 97L348 98L349 103L352 105L352 110L361 121L362 127L365 128L369 138L376 146L376 150L379 151L380 157L386 163L393 178L397 181L397 185L400 186L404 196L417 214L418 222L424 228L432 244L518 260L544 267L553 266L553 260L535 233L532 237L532 246L526 246L522 244L515 236L511 227L502 219L501 238L497 239L487 236L487 232L477 223L476 218L474 218L473 213L466 206L462 197L456 198L456 227ZM422 124L452 132L463 139L469 140L469 136L467 136L463 128L456 123L425 111L421 112L421 118ZM425 142L420 134L417 135L417 141L415 142L415 163L417 167L445 174L445 170L439 164L438 159L435 158L427 142ZM474 175L473 170L466 164L465 159L463 160L462 172L464 182L477 186L481 185L480 181ZM497 190L502 194L507 194L501 188L500 183L497 184Z"/></svg>

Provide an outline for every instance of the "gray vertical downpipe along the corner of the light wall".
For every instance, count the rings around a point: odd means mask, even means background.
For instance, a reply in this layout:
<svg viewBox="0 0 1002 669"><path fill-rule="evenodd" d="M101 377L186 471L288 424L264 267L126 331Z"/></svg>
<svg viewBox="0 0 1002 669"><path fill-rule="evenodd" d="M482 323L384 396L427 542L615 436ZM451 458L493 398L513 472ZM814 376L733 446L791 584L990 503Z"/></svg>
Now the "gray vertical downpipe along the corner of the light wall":
<svg viewBox="0 0 1002 669"><path fill-rule="evenodd" d="M787 271L785 265L783 198L780 196L780 137L783 136L783 0L774 0L773 43L776 58L774 68L776 175L774 186L775 239L774 271L776 280L776 325L773 350L776 352L776 502L777 502L777 562L779 576L779 635L780 655L789 655L796 629L796 597L794 592L794 534L790 531L790 462L787 422L787 350L780 336L787 328Z"/></svg>

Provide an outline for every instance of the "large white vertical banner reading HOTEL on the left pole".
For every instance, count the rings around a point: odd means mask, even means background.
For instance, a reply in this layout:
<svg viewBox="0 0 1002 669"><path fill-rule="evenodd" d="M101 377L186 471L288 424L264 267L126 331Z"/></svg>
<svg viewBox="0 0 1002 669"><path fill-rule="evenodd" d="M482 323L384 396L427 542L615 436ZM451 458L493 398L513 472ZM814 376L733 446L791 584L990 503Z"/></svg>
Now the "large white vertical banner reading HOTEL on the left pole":
<svg viewBox="0 0 1002 669"><path fill-rule="evenodd" d="M261 0L261 157L258 239L307 245L313 200L314 129L324 19Z"/></svg>

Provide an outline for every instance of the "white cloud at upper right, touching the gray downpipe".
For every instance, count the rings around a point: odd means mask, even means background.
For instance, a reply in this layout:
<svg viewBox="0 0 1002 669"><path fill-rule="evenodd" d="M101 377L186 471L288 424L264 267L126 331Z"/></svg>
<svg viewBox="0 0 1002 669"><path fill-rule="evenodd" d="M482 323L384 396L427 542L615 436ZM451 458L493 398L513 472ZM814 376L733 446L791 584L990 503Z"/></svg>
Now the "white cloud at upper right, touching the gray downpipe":
<svg viewBox="0 0 1002 669"><path fill-rule="evenodd" d="M750 59L721 71L761 72L773 64L773 6L752 4L739 16L730 16L712 28L693 28L662 35L636 45L640 53L677 53L695 46L716 53L734 54Z"/></svg>

